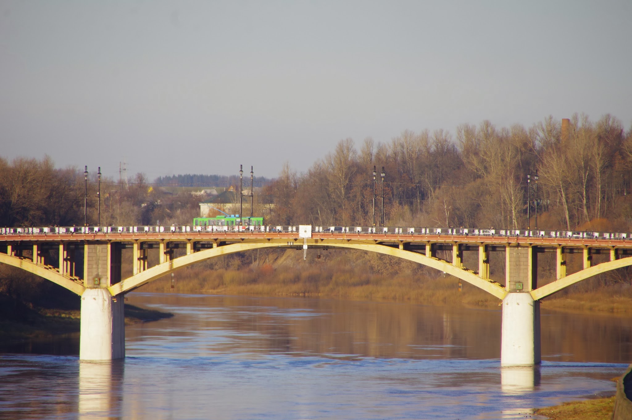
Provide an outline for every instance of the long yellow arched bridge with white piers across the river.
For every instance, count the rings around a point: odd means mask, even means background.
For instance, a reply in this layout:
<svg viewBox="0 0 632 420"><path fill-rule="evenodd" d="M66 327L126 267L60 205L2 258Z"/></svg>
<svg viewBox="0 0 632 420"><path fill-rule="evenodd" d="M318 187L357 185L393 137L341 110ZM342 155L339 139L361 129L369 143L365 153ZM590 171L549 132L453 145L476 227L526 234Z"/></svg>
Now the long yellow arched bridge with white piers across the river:
<svg viewBox="0 0 632 420"><path fill-rule="evenodd" d="M263 248L365 250L467 281L502 301L502 366L540 363L541 299L632 265L630 233L312 225L0 228L0 262L81 297L82 360L125 357L125 293L196 262ZM131 261L123 261L123 249L131 249ZM154 266L150 252L157 253ZM492 252L504 254L502 281L490 278ZM538 255L545 252L555 254L556 280L540 286ZM464 262L468 253L478 264ZM574 273L566 272L569 254L581 254L582 268ZM131 275L122 278L125 264Z"/></svg>

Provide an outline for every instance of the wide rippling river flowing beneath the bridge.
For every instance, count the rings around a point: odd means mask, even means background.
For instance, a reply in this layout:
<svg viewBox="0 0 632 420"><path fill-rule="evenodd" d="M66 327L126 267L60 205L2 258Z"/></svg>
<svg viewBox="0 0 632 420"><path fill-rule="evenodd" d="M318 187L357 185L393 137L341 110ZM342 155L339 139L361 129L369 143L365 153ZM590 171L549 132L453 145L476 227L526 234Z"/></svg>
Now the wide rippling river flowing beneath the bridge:
<svg viewBox="0 0 632 420"><path fill-rule="evenodd" d="M0 354L6 419L521 419L612 395L632 318L542 309L542 366L501 368L500 308L130 293L125 361L78 337ZM40 353L40 354L37 354Z"/></svg>

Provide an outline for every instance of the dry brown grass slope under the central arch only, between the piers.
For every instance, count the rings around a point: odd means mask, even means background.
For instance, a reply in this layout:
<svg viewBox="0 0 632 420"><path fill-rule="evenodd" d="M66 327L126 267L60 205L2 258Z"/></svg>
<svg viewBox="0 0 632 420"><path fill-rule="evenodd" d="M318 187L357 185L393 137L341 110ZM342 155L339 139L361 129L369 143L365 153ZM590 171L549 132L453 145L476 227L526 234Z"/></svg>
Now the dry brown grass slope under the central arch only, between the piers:
<svg viewBox="0 0 632 420"><path fill-rule="evenodd" d="M346 299L387 299L448 304L497 305L491 295L453 276L428 275L415 264L392 264L388 259L329 256L321 261L302 261L302 254L289 251L272 264L243 268L231 261L215 266L193 266L176 273L178 293L231 295L326 296ZM298 258L300 257L300 258ZM298 260L298 261L297 261ZM269 259L268 259L269 261ZM234 261L233 261L234 262ZM209 264L210 265L210 264ZM162 278L143 286L142 292L169 292L171 279Z"/></svg>

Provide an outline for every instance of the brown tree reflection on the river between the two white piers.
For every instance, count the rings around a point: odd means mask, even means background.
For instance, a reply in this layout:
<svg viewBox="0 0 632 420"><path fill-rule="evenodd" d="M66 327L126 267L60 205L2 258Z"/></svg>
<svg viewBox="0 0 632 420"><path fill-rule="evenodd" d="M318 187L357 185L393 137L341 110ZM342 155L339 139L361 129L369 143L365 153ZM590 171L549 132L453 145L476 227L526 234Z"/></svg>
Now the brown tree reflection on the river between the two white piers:
<svg viewBox="0 0 632 420"><path fill-rule="evenodd" d="M129 299L135 304L151 305L154 298L139 294ZM191 357L215 352L406 359L500 356L501 318L497 309L190 295L169 295L161 299L159 307L176 316L128 328L128 350L157 349L145 346L148 337L182 340L186 335L178 352L188 352L185 343L190 342ZM182 311L183 307L187 310ZM195 347L200 334L207 333L219 333L221 337L204 349Z"/></svg>

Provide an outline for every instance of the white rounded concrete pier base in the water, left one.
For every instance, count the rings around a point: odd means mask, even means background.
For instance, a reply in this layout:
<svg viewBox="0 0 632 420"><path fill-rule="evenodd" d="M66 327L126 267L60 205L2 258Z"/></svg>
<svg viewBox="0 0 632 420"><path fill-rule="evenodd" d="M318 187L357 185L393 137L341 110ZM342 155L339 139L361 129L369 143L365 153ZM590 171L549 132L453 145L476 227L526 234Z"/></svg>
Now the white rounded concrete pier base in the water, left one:
<svg viewBox="0 0 632 420"><path fill-rule="evenodd" d="M81 297L80 360L125 357L123 295L112 297L104 288L87 288Z"/></svg>

